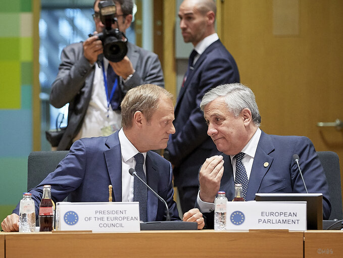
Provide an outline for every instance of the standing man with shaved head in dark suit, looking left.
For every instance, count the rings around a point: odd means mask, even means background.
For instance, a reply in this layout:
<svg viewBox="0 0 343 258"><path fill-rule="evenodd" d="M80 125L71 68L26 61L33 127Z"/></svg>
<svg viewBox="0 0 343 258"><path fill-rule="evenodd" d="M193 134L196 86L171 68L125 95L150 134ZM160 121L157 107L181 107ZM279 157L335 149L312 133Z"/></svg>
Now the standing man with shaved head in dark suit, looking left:
<svg viewBox="0 0 343 258"><path fill-rule="evenodd" d="M179 9L183 39L194 50L175 106L176 133L170 136L164 157L174 166L174 185L183 212L194 207L199 168L216 151L206 134L201 99L212 87L239 82L236 63L215 32L215 17L213 0L185 0Z"/></svg>

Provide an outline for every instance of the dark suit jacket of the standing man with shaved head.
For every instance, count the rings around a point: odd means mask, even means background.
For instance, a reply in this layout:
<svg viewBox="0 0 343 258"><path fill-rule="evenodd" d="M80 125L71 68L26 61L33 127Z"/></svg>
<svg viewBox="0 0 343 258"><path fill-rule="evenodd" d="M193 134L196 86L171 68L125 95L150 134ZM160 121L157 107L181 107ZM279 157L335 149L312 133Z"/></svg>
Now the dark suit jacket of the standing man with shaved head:
<svg viewBox="0 0 343 258"><path fill-rule="evenodd" d="M217 151L207 135L200 102L211 88L239 82L236 63L218 39L208 46L190 70L175 106L174 126L167 150L174 168L174 183L178 187L198 186L198 171L206 158Z"/></svg>

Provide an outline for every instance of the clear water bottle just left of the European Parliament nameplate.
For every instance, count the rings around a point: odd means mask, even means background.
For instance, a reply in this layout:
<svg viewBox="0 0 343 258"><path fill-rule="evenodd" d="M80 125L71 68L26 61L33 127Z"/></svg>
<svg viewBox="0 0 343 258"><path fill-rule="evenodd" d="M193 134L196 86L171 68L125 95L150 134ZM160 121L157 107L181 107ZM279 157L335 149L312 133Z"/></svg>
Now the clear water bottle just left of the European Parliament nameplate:
<svg viewBox="0 0 343 258"><path fill-rule="evenodd" d="M214 201L214 230L226 230L226 203L224 191L219 191Z"/></svg>

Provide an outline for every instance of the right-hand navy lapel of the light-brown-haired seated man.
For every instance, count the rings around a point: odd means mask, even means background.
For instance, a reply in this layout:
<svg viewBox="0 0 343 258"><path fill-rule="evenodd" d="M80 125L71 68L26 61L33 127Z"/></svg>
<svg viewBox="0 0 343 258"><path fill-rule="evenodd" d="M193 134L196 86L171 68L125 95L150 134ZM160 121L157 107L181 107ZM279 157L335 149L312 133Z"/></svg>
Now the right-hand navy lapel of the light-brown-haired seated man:
<svg viewBox="0 0 343 258"><path fill-rule="evenodd" d="M148 185L151 188L153 188L155 192L158 192L158 167L156 166L155 162L151 159L149 152L150 151L146 152L145 159L146 182L148 182ZM159 200L155 196L155 194L148 189L148 221L156 221L158 201Z"/></svg>

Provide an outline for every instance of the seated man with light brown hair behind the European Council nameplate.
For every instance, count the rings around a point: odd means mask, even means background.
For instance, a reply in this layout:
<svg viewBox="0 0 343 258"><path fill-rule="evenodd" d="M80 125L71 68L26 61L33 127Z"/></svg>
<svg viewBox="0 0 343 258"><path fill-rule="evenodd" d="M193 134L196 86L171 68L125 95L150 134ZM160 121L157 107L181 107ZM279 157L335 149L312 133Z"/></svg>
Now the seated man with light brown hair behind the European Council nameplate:
<svg viewBox="0 0 343 258"><path fill-rule="evenodd" d="M165 204L128 172L135 168L139 173L137 166L140 164L141 178L166 200L171 220L179 220L173 200L171 164L151 151L165 148L169 134L175 132L172 97L164 88L153 84L129 90L121 104L123 128L110 136L75 141L56 170L29 190L35 202L36 217L43 185L52 186L52 199L56 203L67 196L68 201L73 202L108 201L111 184L114 201L139 201L141 220L166 220ZM140 184L140 190L136 188L137 184ZM145 205L140 197L145 198ZM3 221L5 231L18 231L18 214L19 204ZM204 227L204 219L198 209L190 210L183 220L197 221L199 229Z"/></svg>

